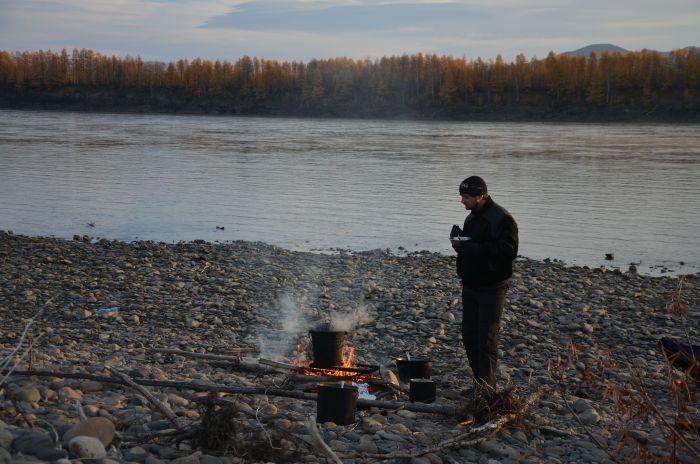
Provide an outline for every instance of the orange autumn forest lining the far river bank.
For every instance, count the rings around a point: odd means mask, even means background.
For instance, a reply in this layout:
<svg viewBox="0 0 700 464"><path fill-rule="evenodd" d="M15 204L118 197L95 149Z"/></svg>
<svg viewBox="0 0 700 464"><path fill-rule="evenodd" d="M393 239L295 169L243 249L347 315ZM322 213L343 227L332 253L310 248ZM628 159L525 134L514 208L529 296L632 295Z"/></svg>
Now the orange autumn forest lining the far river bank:
<svg viewBox="0 0 700 464"><path fill-rule="evenodd" d="M0 51L0 107L502 120L700 120L700 58L550 52L505 62L414 54L354 60L146 62L89 49Z"/></svg>

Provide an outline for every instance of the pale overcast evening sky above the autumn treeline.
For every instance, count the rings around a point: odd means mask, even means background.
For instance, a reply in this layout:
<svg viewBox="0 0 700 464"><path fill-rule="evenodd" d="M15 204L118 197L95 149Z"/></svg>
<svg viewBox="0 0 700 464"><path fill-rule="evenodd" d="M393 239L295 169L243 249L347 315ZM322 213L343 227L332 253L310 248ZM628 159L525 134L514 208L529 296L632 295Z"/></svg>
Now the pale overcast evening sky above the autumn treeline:
<svg viewBox="0 0 700 464"><path fill-rule="evenodd" d="M700 0L0 0L0 50L145 60L438 55L512 61L594 43L700 46Z"/></svg>

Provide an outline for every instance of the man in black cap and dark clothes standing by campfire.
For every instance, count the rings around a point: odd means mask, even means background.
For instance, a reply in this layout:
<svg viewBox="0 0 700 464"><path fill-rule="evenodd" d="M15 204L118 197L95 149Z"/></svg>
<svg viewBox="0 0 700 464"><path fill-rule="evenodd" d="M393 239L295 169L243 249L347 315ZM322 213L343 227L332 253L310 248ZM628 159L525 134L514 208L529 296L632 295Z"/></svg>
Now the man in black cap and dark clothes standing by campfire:
<svg viewBox="0 0 700 464"><path fill-rule="evenodd" d="M518 254L518 226L489 196L481 177L464 179L459 194L470 211L462 230L454 226L450 234L463 238L452 240L462 279L462 341L475 384L495 387L498 332Z"/></svg>

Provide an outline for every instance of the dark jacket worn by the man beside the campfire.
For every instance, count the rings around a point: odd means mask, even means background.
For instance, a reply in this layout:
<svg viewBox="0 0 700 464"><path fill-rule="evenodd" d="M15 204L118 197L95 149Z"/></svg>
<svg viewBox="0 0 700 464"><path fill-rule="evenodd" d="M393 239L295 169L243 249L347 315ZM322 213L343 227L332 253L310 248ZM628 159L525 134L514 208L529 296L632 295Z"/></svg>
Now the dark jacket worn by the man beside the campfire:
<svg viewBox="0 0 700 464"><path fill-rule="evenodd" d="M513 274L518 255L518 225L491 197L464 220L462 235L471 237L458 247L457 274L467 288L495 286Z"/></svg>

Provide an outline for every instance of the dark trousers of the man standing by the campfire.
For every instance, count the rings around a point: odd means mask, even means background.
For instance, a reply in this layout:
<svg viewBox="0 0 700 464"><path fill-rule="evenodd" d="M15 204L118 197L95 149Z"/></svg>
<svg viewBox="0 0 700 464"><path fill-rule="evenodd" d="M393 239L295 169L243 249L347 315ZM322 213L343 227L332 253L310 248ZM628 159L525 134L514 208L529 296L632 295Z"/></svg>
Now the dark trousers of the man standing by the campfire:
<svg viewBox="0 0 700 464"><path fill-rule="evenodd" d="M462 342L474 381L492 387L496 386L498 332L507 291L507 282L482 289L462 287Z"/></svg>

